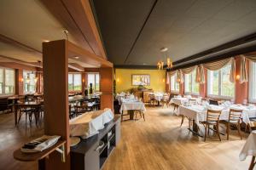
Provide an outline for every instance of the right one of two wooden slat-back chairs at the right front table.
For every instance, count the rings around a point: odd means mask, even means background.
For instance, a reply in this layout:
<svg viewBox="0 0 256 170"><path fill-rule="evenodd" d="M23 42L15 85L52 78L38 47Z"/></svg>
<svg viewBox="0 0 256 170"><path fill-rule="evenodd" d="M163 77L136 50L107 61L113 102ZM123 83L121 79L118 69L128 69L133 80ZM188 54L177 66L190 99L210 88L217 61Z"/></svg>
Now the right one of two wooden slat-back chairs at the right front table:
<svg viewBox="0 0 256 170"><path fill-rule="evenodd" d="M230 125L236 125L238 134L241 137L241 127L240 127L240 121L241 121L241 110L235 110L235 109L230 109L230 114L229 114L229 120L224 120L224 123L226 124L227 127L227 140L229 139L230 136Z"/></svg>

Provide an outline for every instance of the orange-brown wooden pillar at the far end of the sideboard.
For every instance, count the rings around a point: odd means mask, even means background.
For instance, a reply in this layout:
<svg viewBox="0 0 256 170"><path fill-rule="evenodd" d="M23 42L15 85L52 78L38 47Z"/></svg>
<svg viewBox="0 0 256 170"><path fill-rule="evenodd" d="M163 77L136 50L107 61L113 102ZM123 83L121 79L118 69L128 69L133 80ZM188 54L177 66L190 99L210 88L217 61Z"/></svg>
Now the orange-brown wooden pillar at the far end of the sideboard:
<svg viewBox="0 0 256 170"><path fill-rule="evenodd" d="M113 111L113 68L100 68L101 109Z"/></svg>

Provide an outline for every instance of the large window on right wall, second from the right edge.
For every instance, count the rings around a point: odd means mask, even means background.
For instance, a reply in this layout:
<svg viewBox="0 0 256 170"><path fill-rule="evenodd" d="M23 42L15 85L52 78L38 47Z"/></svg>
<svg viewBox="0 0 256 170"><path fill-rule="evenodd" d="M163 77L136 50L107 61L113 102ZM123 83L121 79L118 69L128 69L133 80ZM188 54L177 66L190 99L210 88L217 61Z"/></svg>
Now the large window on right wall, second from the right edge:
<svg viewBox="0 0 256 170"><path fill-rule="evenodd" d="M231 65L226 65L218 71L207 71L207 94L209 96L233 98L235 84L230 82Z"/></svg>

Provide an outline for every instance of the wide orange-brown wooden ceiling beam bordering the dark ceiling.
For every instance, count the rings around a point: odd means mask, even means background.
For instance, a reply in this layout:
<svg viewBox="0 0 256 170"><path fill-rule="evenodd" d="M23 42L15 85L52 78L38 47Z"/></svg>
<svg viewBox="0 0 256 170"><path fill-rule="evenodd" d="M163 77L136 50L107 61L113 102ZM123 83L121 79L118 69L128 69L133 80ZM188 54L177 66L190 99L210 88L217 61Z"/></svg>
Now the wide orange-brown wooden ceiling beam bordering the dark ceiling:
<svg viewBox="0 0 256 170"><path fill-rule="evenodd" d="M107 59L89 0L41 0L49 12L86 50Z"/></svg>

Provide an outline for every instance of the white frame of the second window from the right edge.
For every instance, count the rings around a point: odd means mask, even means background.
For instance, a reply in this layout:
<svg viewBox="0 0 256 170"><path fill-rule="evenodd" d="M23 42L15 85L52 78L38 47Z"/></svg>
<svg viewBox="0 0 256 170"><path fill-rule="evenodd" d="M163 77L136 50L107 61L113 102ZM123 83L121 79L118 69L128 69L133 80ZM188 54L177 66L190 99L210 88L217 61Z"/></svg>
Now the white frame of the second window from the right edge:
<svg viewBox="0 0 256 170"><path fill-rule="evenodd" d="M230 65L230 64L228 64ZM226 67L227 65L224 65L224 67ZM211 98L217 98L217 99L235 99L236 98L236 81L232 82L234 83L234 96L224 96L221 95L222 92L222 69L224 68L222 67L221 69L218 69L218 95L216 94L209 94L209 73L210 70L207 69L207 97L211 97Z"/></svg>

